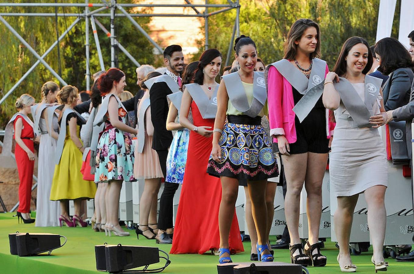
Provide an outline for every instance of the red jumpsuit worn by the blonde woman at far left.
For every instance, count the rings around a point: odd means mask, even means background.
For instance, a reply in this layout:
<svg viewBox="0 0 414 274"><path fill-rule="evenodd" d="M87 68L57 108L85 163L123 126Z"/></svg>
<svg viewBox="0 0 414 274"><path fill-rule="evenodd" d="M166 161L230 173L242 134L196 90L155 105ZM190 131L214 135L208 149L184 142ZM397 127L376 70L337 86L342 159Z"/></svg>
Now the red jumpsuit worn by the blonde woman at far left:
<svg viewBox="0 0 414 274"><path fill-rule="evenodd" d="M23 143L31 150L31 152L34 152L34 144L31 140L31 138L34 138L33 128L22 116L16 117L14 120L14 128L16 128L16 122L18 119L22 119L23 122L22 134L20 135L20 138L22 138ZM19 172L20 180L19 208L17 211L22 213L29 213L34 161L29 160L26 151L24 151L23 148L21 148L17 143L14 150L14 156L16 157L17 171Z"/></svg>

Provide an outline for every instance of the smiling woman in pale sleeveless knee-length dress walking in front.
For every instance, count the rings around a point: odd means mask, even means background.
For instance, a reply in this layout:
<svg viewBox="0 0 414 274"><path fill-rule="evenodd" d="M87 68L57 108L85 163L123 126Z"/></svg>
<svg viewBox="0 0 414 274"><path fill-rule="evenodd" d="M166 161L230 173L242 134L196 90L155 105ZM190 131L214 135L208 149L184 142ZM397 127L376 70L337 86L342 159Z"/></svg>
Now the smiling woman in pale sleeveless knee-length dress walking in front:
<svg viewBox="0 0 414 274"><path fill-rule="evenodd" d="M364 193L368 204L371 262L375 271L386 271L388 267L383 257L388 168L377 129L384 124L386 115L382 80L366 75L372 62L367 41L356 36L349 38L342 46L334 71L326 76L323 91L323 104L334 111L337 123L330 153L330 183L338 203L334 226L342 272L356 272L349 255L349 237L360 193Z"/></svg>

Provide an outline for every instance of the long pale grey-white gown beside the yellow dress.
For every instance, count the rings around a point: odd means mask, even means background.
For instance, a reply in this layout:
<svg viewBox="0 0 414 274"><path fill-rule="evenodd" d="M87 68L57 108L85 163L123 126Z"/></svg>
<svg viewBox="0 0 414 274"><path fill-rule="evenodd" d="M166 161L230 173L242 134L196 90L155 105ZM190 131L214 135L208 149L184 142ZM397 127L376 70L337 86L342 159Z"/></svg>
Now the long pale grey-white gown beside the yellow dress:
<svg viewBox="0 0 414 274"><path fill-rule="evenodd" d="M58 131L58 118L53 115L52 127ZM39 128L46 132L46 121L41 118ZM48 133L40 136L37 169L36 226L59 226L60 203L49 200L55 171L56 140Z"/></svg>

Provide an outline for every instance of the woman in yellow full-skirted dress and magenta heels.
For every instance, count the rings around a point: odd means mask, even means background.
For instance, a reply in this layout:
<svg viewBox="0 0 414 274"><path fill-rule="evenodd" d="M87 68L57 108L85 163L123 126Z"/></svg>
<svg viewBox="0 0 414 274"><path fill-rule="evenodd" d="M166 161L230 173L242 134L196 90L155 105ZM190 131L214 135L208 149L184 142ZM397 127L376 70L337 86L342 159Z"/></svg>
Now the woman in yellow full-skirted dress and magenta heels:
<svg viewBox="0 0 414 274"><path fill-rule="evenodd" d="M56 166L50 199L60 201L62 212L59 217L60 226L63 222L70 227L77 224L84 227L87 223L79 217L82 200L94 198L96 192L94 182L82 179L80 172L84 147L79 137L79 126L85 121L73 110L78 98L76 87L64 86L56 97L64 106L58 117L60 131L56 145ZM67 212L68 200L74 200L75 203L75 214L72 219Z"/></svg>

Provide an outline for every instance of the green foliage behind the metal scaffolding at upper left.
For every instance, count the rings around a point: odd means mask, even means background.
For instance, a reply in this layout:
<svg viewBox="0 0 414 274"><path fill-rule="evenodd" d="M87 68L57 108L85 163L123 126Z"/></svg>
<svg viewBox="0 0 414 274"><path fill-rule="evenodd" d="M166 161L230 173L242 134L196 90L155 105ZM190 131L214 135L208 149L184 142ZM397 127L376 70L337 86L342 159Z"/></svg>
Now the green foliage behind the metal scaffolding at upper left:
<svg viewBox="0 0 414 274"><path fill-rule="evenodd" d="M14 0L10 2L34 2L28 0ZM50 0L36 0L36 2L51 2ZM66 2L58 0L58 2ZM72 0L70 2L84 3L84 0ZM100 0L89 2L101 3ZM123 0L122 3L136 3L139 0ZM91 8L94 10L96 8ZM127 12L133 13L131 8L125 8ZM54 7L0 7L0 12L46 12L54 13ZM59 7L58 13L84 13L83 7ZM141 9L140 13L151 12L150 8ZM109 13L109 11L108 11ZM118 12L120 13L120 12ZM42 55L50 45L57 39L55 17L3 17L5 20L31 45L39 55ZM110 30L109 17L97 17L99 21ZM75 17L58 17L59 36L63 33ZM135 17L135 20L146 31L149 31L151 17ZM154 55L152 44L149 43L126 17L116 17L116 38L135 57L140 64L152 64ZM99 34L101 52L106 69L111 66L111 41L99 26L96 26ZM9 29L0 23L0 98L14 86L20 77L37 61L36 57L22 45L22 43L10 32ZM90 74L101 70L98 54L96 51L92 28L89 24L89 45L90 45ZM79 91L86 90L86 57L85 57L85 20L79 21L59 43L61 77ZM135 93L137 91L135 64L126 55L118 50L118 67L126 74L126 90ZM44 59L58 74L58 50L55 47ZM39 64L34 71L20 84L20 86L0 105L0 129L4 128L8 119L16 109L14 102L23 93L29 93L41 100L40 88L46 81L57 81L55 77L42 64ZM91 81L92 83L92 81ZM62 86L62 84L60 84Z"/></svg>

